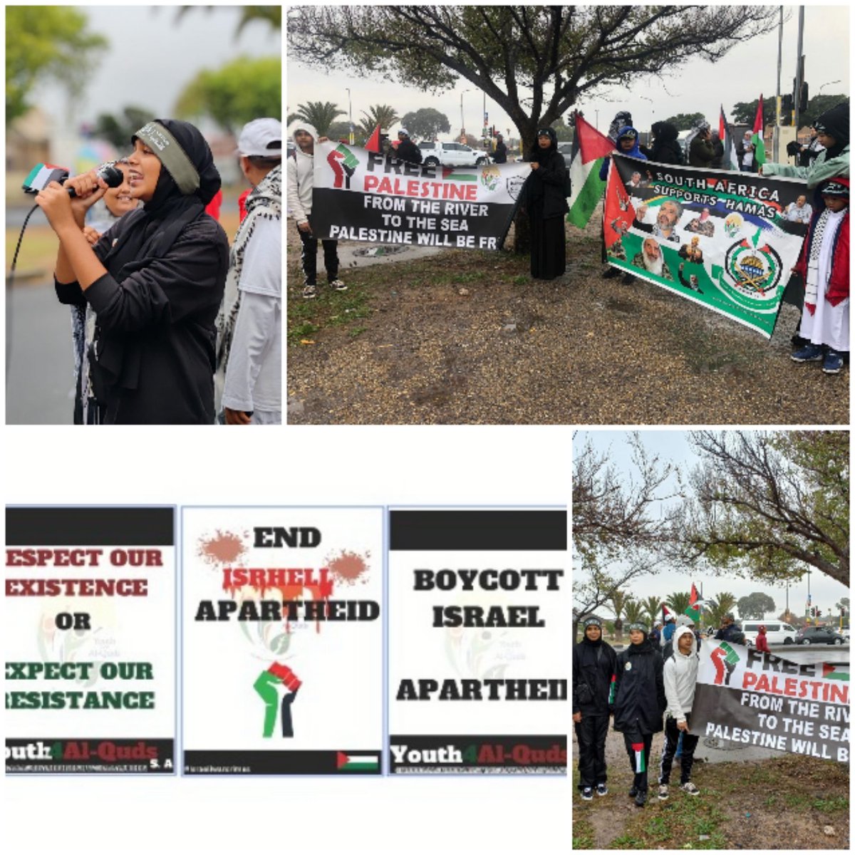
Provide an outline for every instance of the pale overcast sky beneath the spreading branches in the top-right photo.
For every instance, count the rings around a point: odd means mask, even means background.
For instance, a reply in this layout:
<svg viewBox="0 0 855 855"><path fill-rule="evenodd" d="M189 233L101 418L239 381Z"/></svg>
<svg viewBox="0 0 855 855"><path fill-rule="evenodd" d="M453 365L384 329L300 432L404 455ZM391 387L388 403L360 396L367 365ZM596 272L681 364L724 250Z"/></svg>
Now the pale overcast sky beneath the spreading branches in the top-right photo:
<svg viewBox="0 0 855 855"><path fill-rule="evenodd" d="M797 7L785 6L785 13L792 12L784 24L781 62L781 93L792 90L795 75L797 48ZM805 9L805 78L811 87L811 96L819 92L823 84L833 80L840 83L825 86L824 94L849 94L849 11L840 6L808 6ZM763 91L764 97L775 95L778 61L778 35L769 33L754 38L731 50L715 65L703 61L685 62L676 68L677 74L662 79L646 77L631 85L628 90L604 91L596 98L576 104L585 111L591 121L597 119L600 130L608 130L611 118L620 109L629 109L635 126L640 131L649 130L653 121L665 119L678 113L703 112L715 127L718 122L719 105L729 113L734 103L752 101ZM328 68L328 67L327 67ZM481 133L481 109L483 93L472 89L469 81L461 81L454 90L432 95L409 89L392 81L357 78L348 72L339 74L320 68L288 63L287 69L287 112L297 109L305 101L332 101L345 110L340 120L347 118L348 94L351 87L351 102L354 123L369 105L386 103L398 114L410 110L433 107L445 113L451 122L452 135L460 129L460 103L463 95L463 119L469 133ZM470 91L466 91L470 90ZM666 91L667 90L667 91ZM645 100L645 99L652 100ZM495 103L486 99L486 112L490 124L516 136L516 128L508 116ZM393 126L397 129L399 126Z"/></svg>

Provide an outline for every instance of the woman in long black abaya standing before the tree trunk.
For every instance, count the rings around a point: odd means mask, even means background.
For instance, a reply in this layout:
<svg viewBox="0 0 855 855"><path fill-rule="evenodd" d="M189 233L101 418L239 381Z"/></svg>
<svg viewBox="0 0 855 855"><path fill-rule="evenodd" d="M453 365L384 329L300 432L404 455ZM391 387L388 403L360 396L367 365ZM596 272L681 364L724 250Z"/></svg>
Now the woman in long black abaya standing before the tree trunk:
<svg viewBox="0 0 855 855"><path fill-rule="evenodd" d="M537 143L528 159L532 169L526 182L532 278L555 279L566 268L564 215L569 209L564 196L567 168L551 127L537 132Z"/></svg>

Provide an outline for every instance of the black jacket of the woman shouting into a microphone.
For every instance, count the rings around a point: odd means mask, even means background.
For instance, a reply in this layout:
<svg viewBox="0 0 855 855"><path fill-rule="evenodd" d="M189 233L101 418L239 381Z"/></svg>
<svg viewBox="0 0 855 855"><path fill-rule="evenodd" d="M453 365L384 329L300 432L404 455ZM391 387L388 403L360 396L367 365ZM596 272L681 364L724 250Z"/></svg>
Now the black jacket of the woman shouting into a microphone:
<svg viewBox="0 0 855 855"><path fill-rule="evenodd" d="M128 214L102 235L100 261L134 220ZM95 310L96 344L120 347L119 380L99 396L108 423L214 423L215 319L227 269L226 233L203 213L163 257L127 265L121 281L107 273L85 292L56 283L61 303Z"/></svg>

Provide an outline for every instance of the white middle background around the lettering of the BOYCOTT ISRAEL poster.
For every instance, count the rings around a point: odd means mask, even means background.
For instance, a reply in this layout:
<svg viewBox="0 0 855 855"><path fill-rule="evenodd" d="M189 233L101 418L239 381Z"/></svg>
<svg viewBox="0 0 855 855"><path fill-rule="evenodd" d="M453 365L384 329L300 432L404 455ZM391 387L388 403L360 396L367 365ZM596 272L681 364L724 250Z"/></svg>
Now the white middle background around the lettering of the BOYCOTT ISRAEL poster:
<svg viewBox="0 0 855 855"><path fill-rule="evenodd" d="M389 552L389 733L564 734L566 701L397 700L403 679L566 679L569 673L569 571L563 551ZM562 569L558 590L414 590L416 569ZM541 628L434 628L433 605L538 605ZM504 666L504 669L502 668ZM501 673L497 673L501 671ZM503 692L504 698L504 692Z"/></svg>

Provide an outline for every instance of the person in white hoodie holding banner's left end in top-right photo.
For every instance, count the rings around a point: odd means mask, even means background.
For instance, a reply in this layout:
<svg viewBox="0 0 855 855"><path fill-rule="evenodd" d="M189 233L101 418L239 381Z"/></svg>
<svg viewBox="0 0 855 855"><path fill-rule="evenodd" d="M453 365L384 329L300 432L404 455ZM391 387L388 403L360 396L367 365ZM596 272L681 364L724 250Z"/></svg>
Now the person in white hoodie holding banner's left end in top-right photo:
<svg viewBox="0 0 855 855"><path fill-rule="evenodd" d="M288 214L297 223L297 232L303 242L300 262L303 265L303 298L317 297L318 241L312 234L312 190L315 187L315 141L324 143L327 137L318 137L315 127L297 119L288 126L288 135L294 140L294 151L288 157ZM327 282L333 291L347 291L339 279L339 242L322 239L323 263L327 269Z"/></svg>

